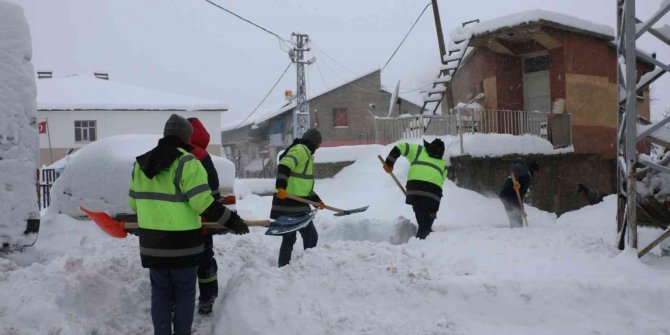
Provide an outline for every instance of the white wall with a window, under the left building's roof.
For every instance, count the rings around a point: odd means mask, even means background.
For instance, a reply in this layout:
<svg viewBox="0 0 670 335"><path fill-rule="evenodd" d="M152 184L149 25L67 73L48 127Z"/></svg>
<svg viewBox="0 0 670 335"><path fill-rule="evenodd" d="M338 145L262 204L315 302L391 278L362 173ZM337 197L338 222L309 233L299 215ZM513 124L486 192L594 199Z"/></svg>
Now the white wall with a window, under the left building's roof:
<svg viewBox="0 0 670 335"><path fill-rule="evenodd" d="M86 143L75 143L74 122L96 121L96 138L123 134L163 134L165 121L171 114L185 118L197 117L210 134L210 146L221 146L221 112L214 111L39 111L39 121L48 119L49 134L40 134L40 149L81 148Z"/></svg>

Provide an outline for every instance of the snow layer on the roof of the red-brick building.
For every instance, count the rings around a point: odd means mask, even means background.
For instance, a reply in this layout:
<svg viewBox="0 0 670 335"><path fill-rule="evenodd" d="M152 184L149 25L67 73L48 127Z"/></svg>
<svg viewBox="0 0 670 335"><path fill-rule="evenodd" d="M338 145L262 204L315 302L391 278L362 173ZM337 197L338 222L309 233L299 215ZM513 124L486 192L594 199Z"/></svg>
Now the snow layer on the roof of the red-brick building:
<svg viewBox="0 0 670 335"><path fill-rule="evenodd" d="M480 22L468 26L474 36L486 35L500 29L536 22L551 22L568 29L600 35L609 39L614 38L614 29L607 25L593 23L574 16L556 13L548 10L536 9L502 16L493 20Z"/></svg>

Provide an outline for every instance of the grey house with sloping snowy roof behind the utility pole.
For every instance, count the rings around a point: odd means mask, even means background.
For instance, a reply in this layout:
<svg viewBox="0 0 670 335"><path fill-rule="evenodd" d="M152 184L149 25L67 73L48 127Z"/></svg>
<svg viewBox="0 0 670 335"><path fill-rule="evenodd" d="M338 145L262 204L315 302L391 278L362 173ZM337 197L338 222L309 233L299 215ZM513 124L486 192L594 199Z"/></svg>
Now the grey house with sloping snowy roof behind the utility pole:
<svg viewBox="0 0 670 335"><path fill-rule="evenodd" d="M376 116L387 116L392 93L381 85L377 69L337 87L307 97L311 127L321 131L322 147L374 143ZM400 95L392 113L418 114L421 107ZM278 152L293 141L296 103L225 125L221 143L235 162L238 176L268 177L274 174Z"/></svg>

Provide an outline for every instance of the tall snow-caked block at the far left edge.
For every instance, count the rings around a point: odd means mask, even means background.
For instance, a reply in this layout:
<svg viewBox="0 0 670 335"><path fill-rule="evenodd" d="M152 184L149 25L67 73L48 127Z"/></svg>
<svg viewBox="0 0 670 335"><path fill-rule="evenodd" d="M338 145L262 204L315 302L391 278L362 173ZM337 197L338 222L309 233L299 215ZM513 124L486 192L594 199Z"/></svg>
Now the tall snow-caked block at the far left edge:
<svg viewBox="0 0 670 335"><path fill-rule="evenodd" d="M32 245L40 213L32 47L23 9L0 0L0 250Z"/></svg>

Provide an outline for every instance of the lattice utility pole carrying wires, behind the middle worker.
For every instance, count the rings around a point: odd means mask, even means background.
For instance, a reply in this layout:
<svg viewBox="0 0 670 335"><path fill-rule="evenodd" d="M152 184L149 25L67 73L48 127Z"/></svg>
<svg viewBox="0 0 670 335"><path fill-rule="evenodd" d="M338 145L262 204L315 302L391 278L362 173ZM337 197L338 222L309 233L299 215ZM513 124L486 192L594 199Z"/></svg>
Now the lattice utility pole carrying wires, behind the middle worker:
<svg viewBox="0 0 670 335"><path fill-rule="evenodd" d="M309 36L292 33L294 47L288 53L291 61L296 65L296 108L293 112L293 138L300 138L310 127L309 104L307 103L307 85L305 81L305 64L316 61L314 57L305 60L305 52L309 51Z"/></svg>

